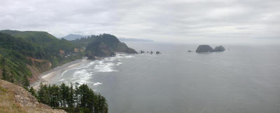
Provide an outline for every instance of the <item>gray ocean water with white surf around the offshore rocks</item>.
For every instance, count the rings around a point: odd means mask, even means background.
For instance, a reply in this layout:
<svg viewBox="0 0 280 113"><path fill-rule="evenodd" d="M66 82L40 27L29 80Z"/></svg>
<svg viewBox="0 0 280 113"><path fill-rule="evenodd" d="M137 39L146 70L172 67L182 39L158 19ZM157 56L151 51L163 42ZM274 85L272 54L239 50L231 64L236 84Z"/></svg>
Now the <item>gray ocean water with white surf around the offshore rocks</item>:
<svg viewBox="0 0 280 113"><path fill-rule="evenodd" d="M52 82L89 84L111 113L279 113L280 46L128 43L160 55L118 54L85 62ZM211 45L219 46L219 45Z"/></svg>

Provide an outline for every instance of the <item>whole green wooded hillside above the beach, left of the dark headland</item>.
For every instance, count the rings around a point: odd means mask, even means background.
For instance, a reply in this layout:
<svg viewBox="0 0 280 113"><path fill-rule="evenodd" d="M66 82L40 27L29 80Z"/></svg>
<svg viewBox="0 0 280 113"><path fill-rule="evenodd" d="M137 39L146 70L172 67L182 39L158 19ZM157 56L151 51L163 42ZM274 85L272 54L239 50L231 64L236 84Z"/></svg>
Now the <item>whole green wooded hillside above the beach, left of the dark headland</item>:
<svg viewBox="0 0 280 113"><path fill-rule="evenodd" d="M52 67L79 59L83 56L78 46L65 39L57 39L48 32L0 31L0 78L28 86L31 71L27 65L38 70L46 62Z"/></svg>

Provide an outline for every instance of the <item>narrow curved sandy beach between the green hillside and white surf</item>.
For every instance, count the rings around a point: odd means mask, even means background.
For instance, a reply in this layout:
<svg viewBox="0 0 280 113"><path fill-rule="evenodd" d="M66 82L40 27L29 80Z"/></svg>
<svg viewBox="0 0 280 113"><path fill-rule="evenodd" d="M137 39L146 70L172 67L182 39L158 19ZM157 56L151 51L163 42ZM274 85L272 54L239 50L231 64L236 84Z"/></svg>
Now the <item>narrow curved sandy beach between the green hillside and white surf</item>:
<svg viewBox="0 0 280 113"><path fill-rule="evenodd" d="M68 62L64 65L55 67L53 69L50 69L46 72L41 73L40 76L38 77L39 80L35 81L34 84L30 84L30 86L32 86L33 88L38 88L40 84L48 84L52 79L57 77L57 75L62 74L67 69L78 67L82 65L84 62L89 62L89 61L90 60L87 60L87 58L82 58L82 59L74 60L72 62Z"/></svg>

